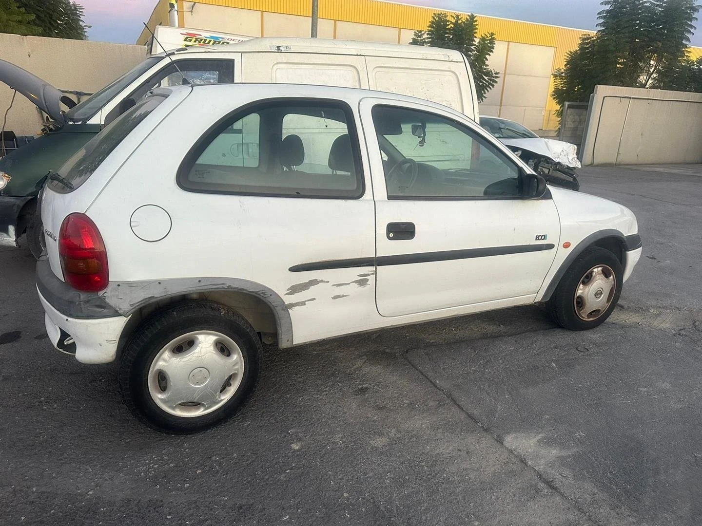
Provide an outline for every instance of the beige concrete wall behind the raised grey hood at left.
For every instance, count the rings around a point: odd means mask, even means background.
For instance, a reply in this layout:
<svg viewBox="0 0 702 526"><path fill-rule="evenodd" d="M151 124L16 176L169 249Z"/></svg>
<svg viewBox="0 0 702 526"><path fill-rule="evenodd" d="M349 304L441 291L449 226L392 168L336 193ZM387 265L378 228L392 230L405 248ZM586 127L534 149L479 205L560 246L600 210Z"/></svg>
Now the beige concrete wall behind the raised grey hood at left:
<svg viewBox="0 0 702 526"><path fill-rule="evenodd" d="M94 93L146 58L143 46L4 33L0 33L0 50L3 60L27 69L55 88L86 93ZM1 114L10 105L12 94L13 90L0 83ZM17 135L34 135L41 126L37 107L18 94L5 129Z"/></svg>

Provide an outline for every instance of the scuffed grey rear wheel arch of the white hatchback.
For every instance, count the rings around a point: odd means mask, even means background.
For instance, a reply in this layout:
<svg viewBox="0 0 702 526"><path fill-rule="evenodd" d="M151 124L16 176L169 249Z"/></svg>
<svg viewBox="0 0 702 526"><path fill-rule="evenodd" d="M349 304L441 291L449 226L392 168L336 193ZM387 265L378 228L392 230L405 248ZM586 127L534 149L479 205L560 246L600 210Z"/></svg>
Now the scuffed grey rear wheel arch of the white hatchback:
<svg viewBox="0 0 702 526"><path fill-rule="evenodd" d="M280 348L293 345L292 321L282 297L253 281L237 278L118 281L110 282L102 297L122 316L130 316L120 337L118 356L135 328L152 313L176 302L201 299L231 307L257 332L273 332Z"/></svg>

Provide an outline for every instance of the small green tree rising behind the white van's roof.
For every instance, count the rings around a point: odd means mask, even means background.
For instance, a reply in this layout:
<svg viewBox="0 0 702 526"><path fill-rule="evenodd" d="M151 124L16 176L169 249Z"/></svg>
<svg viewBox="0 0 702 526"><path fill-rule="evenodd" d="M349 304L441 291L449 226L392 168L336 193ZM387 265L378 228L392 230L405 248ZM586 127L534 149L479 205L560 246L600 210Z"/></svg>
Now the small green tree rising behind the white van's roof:
<svg viewBox="0 0 702 526"><path fill-rule="evenodd" d="M482 34L477 38L477 29L475 15L463 17L454 14L449 17L447 13L434 13L427 29L414 32L410 43L461 51L470 64L478 102L482 102L487 92L494 88L499 74L487 64L495 50L495 34Z"/></svg>

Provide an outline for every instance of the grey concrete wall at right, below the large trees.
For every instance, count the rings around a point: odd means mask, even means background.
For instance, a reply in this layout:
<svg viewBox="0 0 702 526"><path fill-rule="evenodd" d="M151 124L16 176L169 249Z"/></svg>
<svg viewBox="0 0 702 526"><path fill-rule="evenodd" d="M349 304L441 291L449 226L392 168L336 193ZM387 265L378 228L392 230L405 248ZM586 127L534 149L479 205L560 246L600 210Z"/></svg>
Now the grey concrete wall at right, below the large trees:
<svg viewBox="0 0 702 526"><path fill-rule="evenodd" d="M597 86L583 165L702 163L702 93Z"/></svg>

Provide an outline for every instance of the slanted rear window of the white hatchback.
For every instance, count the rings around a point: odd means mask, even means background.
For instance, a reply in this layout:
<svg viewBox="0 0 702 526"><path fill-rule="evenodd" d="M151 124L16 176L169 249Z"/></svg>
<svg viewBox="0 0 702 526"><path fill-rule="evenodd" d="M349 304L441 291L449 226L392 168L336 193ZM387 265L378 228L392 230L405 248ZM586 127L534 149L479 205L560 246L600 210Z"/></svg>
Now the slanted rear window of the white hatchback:
<svg viewBox="0 0 702 526"><path fill-rule="evenodd" d="M88 180L88 177L93 175L95 169L102 164L102 161L107 159L107 156L112 153L117 144L122 142L124 137L139 126L139 123L146 119L164 100L166 100L164 95L148 97L105 126L104 130L95 135L95 137L86 142L84 147L73 154L58 170L58 175L69 182L72 188L53 179L49 180L48 187L60 194L67 194L77 189Z"/></svg>

